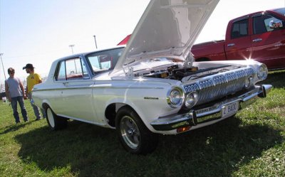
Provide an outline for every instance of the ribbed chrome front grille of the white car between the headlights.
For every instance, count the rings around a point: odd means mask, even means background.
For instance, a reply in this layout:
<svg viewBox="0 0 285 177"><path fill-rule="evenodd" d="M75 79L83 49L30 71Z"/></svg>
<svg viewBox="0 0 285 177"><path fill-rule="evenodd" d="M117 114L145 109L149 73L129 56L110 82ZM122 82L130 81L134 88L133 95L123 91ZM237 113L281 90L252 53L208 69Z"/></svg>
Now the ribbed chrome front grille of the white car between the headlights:
<svg viewBox="0 0 285 177"><path fill-rule="evenodd" d="M183 87L186 93L198 92L197 105L199 105L243 90L245 80L250 75L256 75L252 68L237 69L212 75Z"/></svg>

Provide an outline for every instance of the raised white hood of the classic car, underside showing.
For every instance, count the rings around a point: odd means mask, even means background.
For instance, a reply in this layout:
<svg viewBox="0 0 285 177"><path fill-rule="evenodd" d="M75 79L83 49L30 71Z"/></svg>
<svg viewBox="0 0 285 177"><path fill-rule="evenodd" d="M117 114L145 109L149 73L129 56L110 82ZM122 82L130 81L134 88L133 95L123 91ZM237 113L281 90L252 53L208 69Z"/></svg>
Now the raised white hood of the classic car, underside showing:
<svg viewBox="0 0 285 177"><path fill-rule="evenodd" d="M219 0L151 0L113 74L127 65L155 57L185 60L218 2Z"/></svg>

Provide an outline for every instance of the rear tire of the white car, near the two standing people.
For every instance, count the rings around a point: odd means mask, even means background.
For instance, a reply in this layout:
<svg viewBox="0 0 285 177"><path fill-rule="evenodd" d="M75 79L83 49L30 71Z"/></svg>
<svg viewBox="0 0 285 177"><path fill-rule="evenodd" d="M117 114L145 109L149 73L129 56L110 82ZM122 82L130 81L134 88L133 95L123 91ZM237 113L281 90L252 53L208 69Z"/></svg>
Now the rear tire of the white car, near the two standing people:
<svg viewBox="0 0 285 177"><path fill-rule="evenodd" d="M67 119L58 117L51 107L46 108L46 121L51 130L65 129L67 127Z"/></svg>

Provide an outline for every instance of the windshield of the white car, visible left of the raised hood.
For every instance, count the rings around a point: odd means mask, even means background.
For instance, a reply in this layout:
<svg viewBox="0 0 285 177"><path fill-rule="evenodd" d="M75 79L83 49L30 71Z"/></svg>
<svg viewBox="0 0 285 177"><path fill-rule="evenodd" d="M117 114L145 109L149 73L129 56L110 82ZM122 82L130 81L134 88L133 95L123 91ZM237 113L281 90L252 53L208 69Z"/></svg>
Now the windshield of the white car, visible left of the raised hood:
<svg viewBox="0 0 285 177"><path fill-rule="evenodd" d="M114 48L100 52L90 53L86 56L93 75L104 71L113 70L124 48Z"/></svg>

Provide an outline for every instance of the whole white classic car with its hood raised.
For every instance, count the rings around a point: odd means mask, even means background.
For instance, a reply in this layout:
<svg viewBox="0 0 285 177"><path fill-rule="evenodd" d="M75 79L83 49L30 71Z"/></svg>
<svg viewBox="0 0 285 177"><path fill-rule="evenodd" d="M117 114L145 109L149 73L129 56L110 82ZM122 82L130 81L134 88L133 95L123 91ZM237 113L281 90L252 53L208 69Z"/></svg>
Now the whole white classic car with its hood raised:
<svg viewBox="0 0 285 177"><path fill-rule="evenodd" d="M217 3L150 1L128 45L54 61L32 92L49 127L75 119L115 129L127 151L147 154L158 134L214 124L266 97L271 85L257 84L268 73L262 63L193 62L190 48Z"/></svg>

